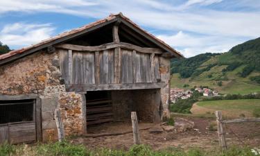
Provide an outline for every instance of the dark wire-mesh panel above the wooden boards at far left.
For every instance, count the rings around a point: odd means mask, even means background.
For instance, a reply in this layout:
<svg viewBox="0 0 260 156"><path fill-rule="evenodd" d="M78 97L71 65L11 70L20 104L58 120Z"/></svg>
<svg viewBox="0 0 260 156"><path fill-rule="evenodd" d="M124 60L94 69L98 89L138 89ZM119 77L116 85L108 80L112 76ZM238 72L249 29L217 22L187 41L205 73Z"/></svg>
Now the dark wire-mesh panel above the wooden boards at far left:
<svg viewBox="0 0 260 156"><path fill-rule="evenodd" d="M34 100L0 101L0 124L34 121Z"/></svg>

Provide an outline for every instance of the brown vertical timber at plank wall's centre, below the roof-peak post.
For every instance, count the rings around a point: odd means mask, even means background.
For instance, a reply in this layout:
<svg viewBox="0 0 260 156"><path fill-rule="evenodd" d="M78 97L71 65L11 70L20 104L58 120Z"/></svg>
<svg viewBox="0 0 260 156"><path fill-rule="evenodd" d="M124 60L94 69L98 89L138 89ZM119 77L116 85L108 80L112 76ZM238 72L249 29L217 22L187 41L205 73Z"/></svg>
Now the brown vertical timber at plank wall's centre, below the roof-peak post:
<svg viewBox="0 0 260 156"><path fill-rule="evenodd" d="M114 49L114 83L120 83L121 79L121 49Z"/></svg>

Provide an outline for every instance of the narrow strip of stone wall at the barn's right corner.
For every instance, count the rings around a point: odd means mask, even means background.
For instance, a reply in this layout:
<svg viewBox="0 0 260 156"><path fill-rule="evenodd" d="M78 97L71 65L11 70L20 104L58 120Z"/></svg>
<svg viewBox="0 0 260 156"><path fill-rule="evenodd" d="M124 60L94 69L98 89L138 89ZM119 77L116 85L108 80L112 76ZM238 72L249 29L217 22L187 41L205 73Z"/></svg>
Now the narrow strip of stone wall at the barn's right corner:
<svg viewBox="0 0 260 156"><path fill-rule="evenodd" d="M166 85L161 89L161 98L162 98L162 118L170 117L170 89L171 89L171 62L168 58L159 57L159 72L161 75L162 82Z"/></svg>

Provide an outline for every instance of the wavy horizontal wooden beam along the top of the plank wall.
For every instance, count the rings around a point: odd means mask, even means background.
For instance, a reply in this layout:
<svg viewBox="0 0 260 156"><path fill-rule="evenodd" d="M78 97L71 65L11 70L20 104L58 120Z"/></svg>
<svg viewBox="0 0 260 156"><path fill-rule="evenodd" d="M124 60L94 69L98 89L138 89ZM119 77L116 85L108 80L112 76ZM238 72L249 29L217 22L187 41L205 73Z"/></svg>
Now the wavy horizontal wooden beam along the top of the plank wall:
<svg viewBox="0 0 260 156"><path fill-rule="evenodd" d="M60 44L56 47L61 49L71 49L73 51L105 51L107 49L123 48L123 49L135 50L140 53L157 53L157 54L163 53L161 49L143 48L125 42L118 42L118 43L112 42L112 43L102 44L100 46L78 46L74 44Z"/></svg>

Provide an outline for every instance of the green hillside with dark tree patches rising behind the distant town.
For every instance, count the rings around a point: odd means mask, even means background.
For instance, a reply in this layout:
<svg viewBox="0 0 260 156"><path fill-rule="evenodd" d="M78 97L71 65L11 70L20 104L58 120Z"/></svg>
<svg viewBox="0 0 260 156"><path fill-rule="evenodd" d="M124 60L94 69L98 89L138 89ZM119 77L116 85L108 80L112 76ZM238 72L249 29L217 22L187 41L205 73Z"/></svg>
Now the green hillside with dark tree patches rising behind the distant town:
<svg viewBox="0 0 260 156"><path fill-rule="evenodd" d="M223 94L260 92L260 37L227 53L173 59L171 73L171 87L208 86Z"/></svg>

